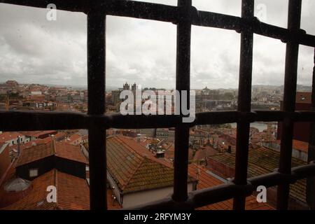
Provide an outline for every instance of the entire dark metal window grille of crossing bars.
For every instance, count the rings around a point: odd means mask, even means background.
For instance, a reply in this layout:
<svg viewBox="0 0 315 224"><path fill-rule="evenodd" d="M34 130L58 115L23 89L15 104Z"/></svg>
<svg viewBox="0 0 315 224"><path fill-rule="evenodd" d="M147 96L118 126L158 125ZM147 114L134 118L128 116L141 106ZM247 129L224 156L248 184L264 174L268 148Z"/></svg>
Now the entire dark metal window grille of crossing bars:
<svg viewBox="0 0 315 224"><path fill-rule="evenodd" d="M234 198L234 209L242 210L245 207L246 196L251 195L253 190L260 185L267 188L278 186L277 209L288 209L289 185L298 179L315 176L314 160L302 167L292 168L290 163L293 124L295 122L315 122L314 111L295 111L299 45L315 47L315 36L300 29L302 0L288 1L288 29L268 25L255 18L253 16L254 0L242 0L241 18L197 10L192 6L191 0L178 0L178 6L123 0L0 0L0 3L39 8L46 8L48 3L55 3L59 10L87 14L88 113L2 111L0 112L0 130L88 129L91 209L106 209L105 132L111 127L128 129L176 127L174 194L172 197L134 209L195 209ZM239 32L241 34L241 58L237 111L197 113L194 123L182 123L181 116L104 114L106 15L158 20L177 25L176 90L190 90L191 25L231 29ZM276 38L286 43L283 111L251 111L253 34ZM313 85L313 96L314 92ZM270 174L247 179L249 125L256 121L278 121L282 122L285 127L281 134L279 169ZM188 193L189 127L223 123L237 123L235 179L221 186Z"/></svg>

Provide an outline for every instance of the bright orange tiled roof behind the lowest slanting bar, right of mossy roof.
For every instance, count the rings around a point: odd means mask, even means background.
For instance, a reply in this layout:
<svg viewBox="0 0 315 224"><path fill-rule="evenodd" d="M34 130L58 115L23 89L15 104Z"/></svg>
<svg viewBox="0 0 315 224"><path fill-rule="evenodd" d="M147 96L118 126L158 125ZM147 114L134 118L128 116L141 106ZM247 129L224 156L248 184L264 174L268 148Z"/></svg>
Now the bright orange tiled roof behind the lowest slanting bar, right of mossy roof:
<svg viewBox="0 0 315 224"><path fill-rule="evenodd" d="M223 181L216 179L207 172L204 167L198 166L196 164L188 165L188 174L198 179L197 190L204 188L211 188L223 184ZM200 207L197 210L232 210L233 200L226 200L223 202L218 202L215 204L210 204L204 207ZM253 196L246 197L246 210L272 210L274 209L269 204L258 203L256 198Z"/></svg>

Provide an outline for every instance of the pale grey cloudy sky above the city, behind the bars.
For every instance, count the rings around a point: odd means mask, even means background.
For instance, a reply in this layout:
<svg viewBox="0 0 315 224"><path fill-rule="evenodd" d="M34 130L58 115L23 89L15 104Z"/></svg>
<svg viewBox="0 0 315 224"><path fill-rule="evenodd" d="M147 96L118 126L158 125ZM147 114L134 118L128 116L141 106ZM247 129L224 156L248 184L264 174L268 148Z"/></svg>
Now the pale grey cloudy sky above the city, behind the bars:
<svg viewBox="0 0 315 224"><path fill-rule="evenodd" d="M151 2L175 6L177 1ZM193 5L241 15L241 0L193 0ZM302 29L313 35L314 8L314 0L302 0ZM288 0L255 1L255 15L272 25L286 27L287 9ZM86 15L58 10L57 20L48 21L47 12L0 3L0 82L87 85ZM106 24L106 85L175 87L175 25L111 16ZM191 87L237 87L239 41L235 31L193 27ZM282 85L286 45L255 35L253 50L253 84ZM313 48L300 47L299 84L311 84L313 57Z"/></svg>

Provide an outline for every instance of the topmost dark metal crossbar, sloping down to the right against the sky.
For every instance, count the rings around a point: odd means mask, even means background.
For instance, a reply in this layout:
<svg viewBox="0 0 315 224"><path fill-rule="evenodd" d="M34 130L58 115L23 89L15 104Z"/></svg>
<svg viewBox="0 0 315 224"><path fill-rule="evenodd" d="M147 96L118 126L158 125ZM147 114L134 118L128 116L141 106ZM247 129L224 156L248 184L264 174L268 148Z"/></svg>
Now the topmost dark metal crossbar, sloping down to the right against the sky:
<svg viewBox="0 0 315 224"><path fill-rule="evenodd" d="M59 10L83 13L86 13L89 7L87 0L0 0L0 3L37 8L46 8L48 3L55 3ZM104 1L99 7L104 8L104 12L107 15L173 22L175 24L177 24L179 20L179 8L177 6L167 6L159 3L116 0ZM315 36L307 34L306 31L302 29L297 33L292 33L288 29L260 22L257 18L251 21L244 20L237 16L197 10L195 7L192 7L191 10L193 10L192 25L230 29L238 32L242 29L253 27L253 32L258 35L276 38L285 43L294 39L301 45L315 47Z"/></svg>

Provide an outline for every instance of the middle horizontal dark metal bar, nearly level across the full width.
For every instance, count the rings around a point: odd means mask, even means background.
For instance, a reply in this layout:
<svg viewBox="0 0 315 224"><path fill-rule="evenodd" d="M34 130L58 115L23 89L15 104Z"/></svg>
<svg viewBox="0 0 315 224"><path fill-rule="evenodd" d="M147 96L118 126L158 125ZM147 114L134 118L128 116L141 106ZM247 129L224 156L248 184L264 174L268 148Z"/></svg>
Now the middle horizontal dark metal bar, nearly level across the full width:
<svg viewBox="0 0 315 224"><path fill-rule="evenodd" d="M30 131L30 130L63 130L63 129L87 129L89 120L96 120L99 126L106 129L111 127L121 129L146 129L175 127L183 120L176 115L127 115L120 113L105 115L87 115L85 113L71 112L42 112L42 111L0 111L0 130ZM195 121L189 123L195 125L218 125L237 122L276 122L290 118L294 122L315 122L315 111L251 111L242 113L237 111L211 111L196 113Z"/></svg>

